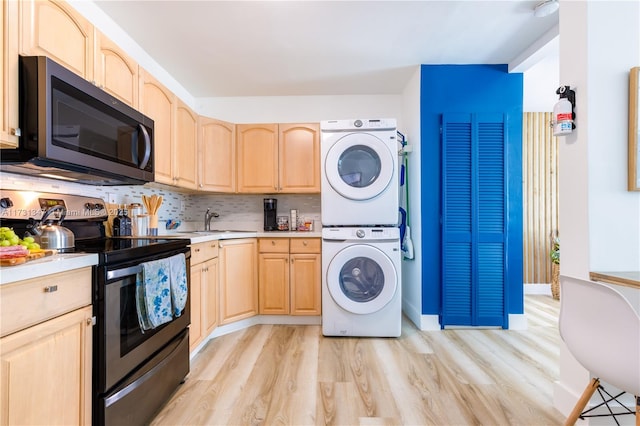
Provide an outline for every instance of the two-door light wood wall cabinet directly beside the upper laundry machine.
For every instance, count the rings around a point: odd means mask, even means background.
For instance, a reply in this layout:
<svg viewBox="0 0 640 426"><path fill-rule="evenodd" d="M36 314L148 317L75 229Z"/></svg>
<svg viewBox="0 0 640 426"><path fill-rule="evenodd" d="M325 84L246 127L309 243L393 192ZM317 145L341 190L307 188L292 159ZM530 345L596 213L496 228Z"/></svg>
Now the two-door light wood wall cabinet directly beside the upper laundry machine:
<svg viewBox="0 0 640 426"><path fill-rule="evenodd" d="M320 192L318 124L238 124L238 192Z"/></svg>

